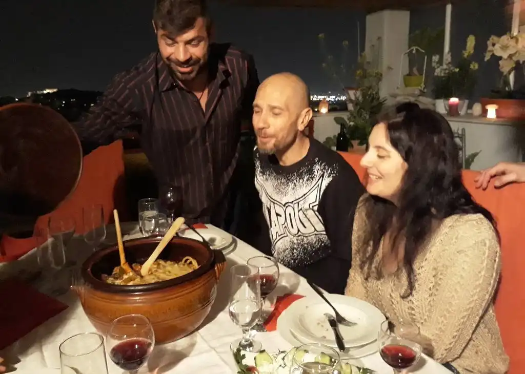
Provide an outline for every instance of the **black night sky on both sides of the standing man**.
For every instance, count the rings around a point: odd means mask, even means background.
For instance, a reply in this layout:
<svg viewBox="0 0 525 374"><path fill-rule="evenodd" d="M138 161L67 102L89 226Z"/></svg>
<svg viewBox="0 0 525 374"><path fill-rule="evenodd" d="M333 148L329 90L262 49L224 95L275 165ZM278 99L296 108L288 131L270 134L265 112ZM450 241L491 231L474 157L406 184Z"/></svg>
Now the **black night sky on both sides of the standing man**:
<svg viewBox="0 0 525 374"><path fill-rule="evenodd" d="M0 96L25 96L44 88L104 90L117 72L156 49L153 0L2 1ZM302 77L312 92L338 90L321 67L317 35L348 65L357 59L357 29L365 15L345 9L261 9L210 3L217 41L253 54L259 78L280 71ZM363 47L362 47L363 48Z"/></svg>

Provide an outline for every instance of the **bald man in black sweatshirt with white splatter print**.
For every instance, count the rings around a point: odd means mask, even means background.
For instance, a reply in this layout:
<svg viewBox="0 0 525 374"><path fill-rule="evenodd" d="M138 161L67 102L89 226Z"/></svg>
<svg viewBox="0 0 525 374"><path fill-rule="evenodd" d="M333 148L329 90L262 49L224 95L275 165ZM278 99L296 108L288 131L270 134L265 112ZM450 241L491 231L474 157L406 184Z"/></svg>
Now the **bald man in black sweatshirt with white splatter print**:
<svg viewBox="0 0 525 374"><path fill-rule="evenodd" d="M304 135L312 119L309 101L306 84L291 73L260 84L253 114L255 185L271 254L325 291L343 294L364 189L337 152Z"/></svg>

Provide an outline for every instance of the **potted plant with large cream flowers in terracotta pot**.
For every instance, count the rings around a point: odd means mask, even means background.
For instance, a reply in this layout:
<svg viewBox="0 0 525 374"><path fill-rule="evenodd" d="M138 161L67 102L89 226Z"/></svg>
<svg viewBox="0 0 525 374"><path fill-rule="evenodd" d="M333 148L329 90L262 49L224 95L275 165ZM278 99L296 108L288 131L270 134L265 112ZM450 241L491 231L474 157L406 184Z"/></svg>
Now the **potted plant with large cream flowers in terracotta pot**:
<svg viewBox="0 0 525 374"><path fill-rule="evenodd" d="M511 87L510 75L520 72L525 74L525 33L501 37L491 36L487 41L485 61L497 56L499 70L502 73L500 87L491 91L489 98L481 98L484 114L487 114L486 105L496 104L496 114L500 118L525 119L525 86ZM519 69L521 68L521 69Z"/></svg>

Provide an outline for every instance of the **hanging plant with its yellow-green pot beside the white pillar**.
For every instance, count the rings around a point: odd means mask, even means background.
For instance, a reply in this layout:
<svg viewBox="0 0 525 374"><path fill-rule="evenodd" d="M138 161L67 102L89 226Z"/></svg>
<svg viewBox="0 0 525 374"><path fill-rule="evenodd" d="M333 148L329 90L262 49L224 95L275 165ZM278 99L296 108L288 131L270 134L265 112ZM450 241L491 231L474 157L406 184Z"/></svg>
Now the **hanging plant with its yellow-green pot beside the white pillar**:
<svg viewBox="0 0 525 374"><path fill-rule="evenodd" d="M414 53L408 54L408 74L403 77L405 87L422 87L424 77L421 72L424 69L425 55L432 56L437 53L440 45L443 44L445 37L445 29L439 28L436 30L430 27L424 27L415 31L408 36L408 49L413 49ZM424 51L425 55L416 53L418 48Z"/></svg>

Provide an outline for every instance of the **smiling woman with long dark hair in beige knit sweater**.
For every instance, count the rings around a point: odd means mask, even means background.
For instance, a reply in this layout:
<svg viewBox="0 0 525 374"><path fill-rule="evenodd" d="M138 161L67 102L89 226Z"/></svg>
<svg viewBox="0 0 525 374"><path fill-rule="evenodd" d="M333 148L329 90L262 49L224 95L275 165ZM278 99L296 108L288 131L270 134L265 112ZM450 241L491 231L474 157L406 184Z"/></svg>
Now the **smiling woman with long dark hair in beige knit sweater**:
<svg viewBox="0 0 525 374"><path fill-rule="evenodd" d="M461 181L445 118L402 104L380 118L361 165L346 295L421 330L425 352L461 374L509 365L493 308L500 275L495 221Z"/></svg>

